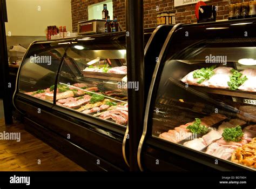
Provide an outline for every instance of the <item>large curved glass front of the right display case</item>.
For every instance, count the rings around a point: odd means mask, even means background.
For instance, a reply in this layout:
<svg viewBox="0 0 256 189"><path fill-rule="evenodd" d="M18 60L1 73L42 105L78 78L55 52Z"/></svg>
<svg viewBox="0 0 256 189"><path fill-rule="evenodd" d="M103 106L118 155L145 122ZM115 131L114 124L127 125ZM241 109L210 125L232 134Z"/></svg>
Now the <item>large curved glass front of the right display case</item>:
<svg viewBox="0 0 256 189"><path fill-rule="evenodd" d="M169 44L152 102L152 136L255 170L255 33L217 36L191 37L176 54L182 46Z"/></svg>

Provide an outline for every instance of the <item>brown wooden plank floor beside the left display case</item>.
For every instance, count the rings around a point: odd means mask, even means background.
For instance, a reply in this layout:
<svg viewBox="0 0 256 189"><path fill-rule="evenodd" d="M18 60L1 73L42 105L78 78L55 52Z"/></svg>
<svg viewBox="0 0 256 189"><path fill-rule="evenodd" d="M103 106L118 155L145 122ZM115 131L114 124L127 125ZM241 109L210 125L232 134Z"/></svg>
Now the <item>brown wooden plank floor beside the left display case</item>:
<svg viewBox="0 0 256 189"><path fill-rule="evenodd" d="M0 140L0 171L85 171L84 168L52 149L43 141L15 123L5 126L0 120L0 132L21 132L21 141ZM39 161L41 164L38 164Z"/></svg>

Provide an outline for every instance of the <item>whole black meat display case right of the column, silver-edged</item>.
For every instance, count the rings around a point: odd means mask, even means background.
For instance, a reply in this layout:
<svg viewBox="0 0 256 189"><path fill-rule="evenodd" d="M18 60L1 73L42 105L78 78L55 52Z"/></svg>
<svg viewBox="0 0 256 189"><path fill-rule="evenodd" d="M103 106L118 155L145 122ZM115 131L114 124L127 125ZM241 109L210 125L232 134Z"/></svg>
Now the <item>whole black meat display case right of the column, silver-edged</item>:
<svg viewBox="0 0 256 189"><path fill-rule="evenodd" d="M256 19L177 24L160 52L144 171L256 170Z"/></svg>

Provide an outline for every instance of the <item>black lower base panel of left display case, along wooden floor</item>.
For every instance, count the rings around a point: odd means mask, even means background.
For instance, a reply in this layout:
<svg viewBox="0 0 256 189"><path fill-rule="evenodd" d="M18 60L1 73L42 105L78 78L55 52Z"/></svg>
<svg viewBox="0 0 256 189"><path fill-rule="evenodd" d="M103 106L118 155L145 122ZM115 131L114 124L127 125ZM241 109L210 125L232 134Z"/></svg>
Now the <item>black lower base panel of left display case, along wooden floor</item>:
<svg viewBox="0 0 256 189"><path fill-rule="evenodd" d="M28 118L24 118L24 124L26 131L49 144L72 161L75 161L78 165L84 167L86 171L122 171L120 168L45 129L45 127Z"/></svg>

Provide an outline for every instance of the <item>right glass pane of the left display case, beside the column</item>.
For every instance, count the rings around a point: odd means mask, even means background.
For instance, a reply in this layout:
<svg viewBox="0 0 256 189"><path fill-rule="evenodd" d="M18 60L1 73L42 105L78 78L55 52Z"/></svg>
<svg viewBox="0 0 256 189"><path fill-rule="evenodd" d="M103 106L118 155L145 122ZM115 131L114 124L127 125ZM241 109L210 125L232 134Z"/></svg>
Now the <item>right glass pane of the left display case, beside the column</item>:
<svg viewBox="0 0 256 189"><path fill-rule="evenodd" d="M126 49L124 35L120 37L86 37L72 43L59 73L57 105L127 125Z"/></svg>

